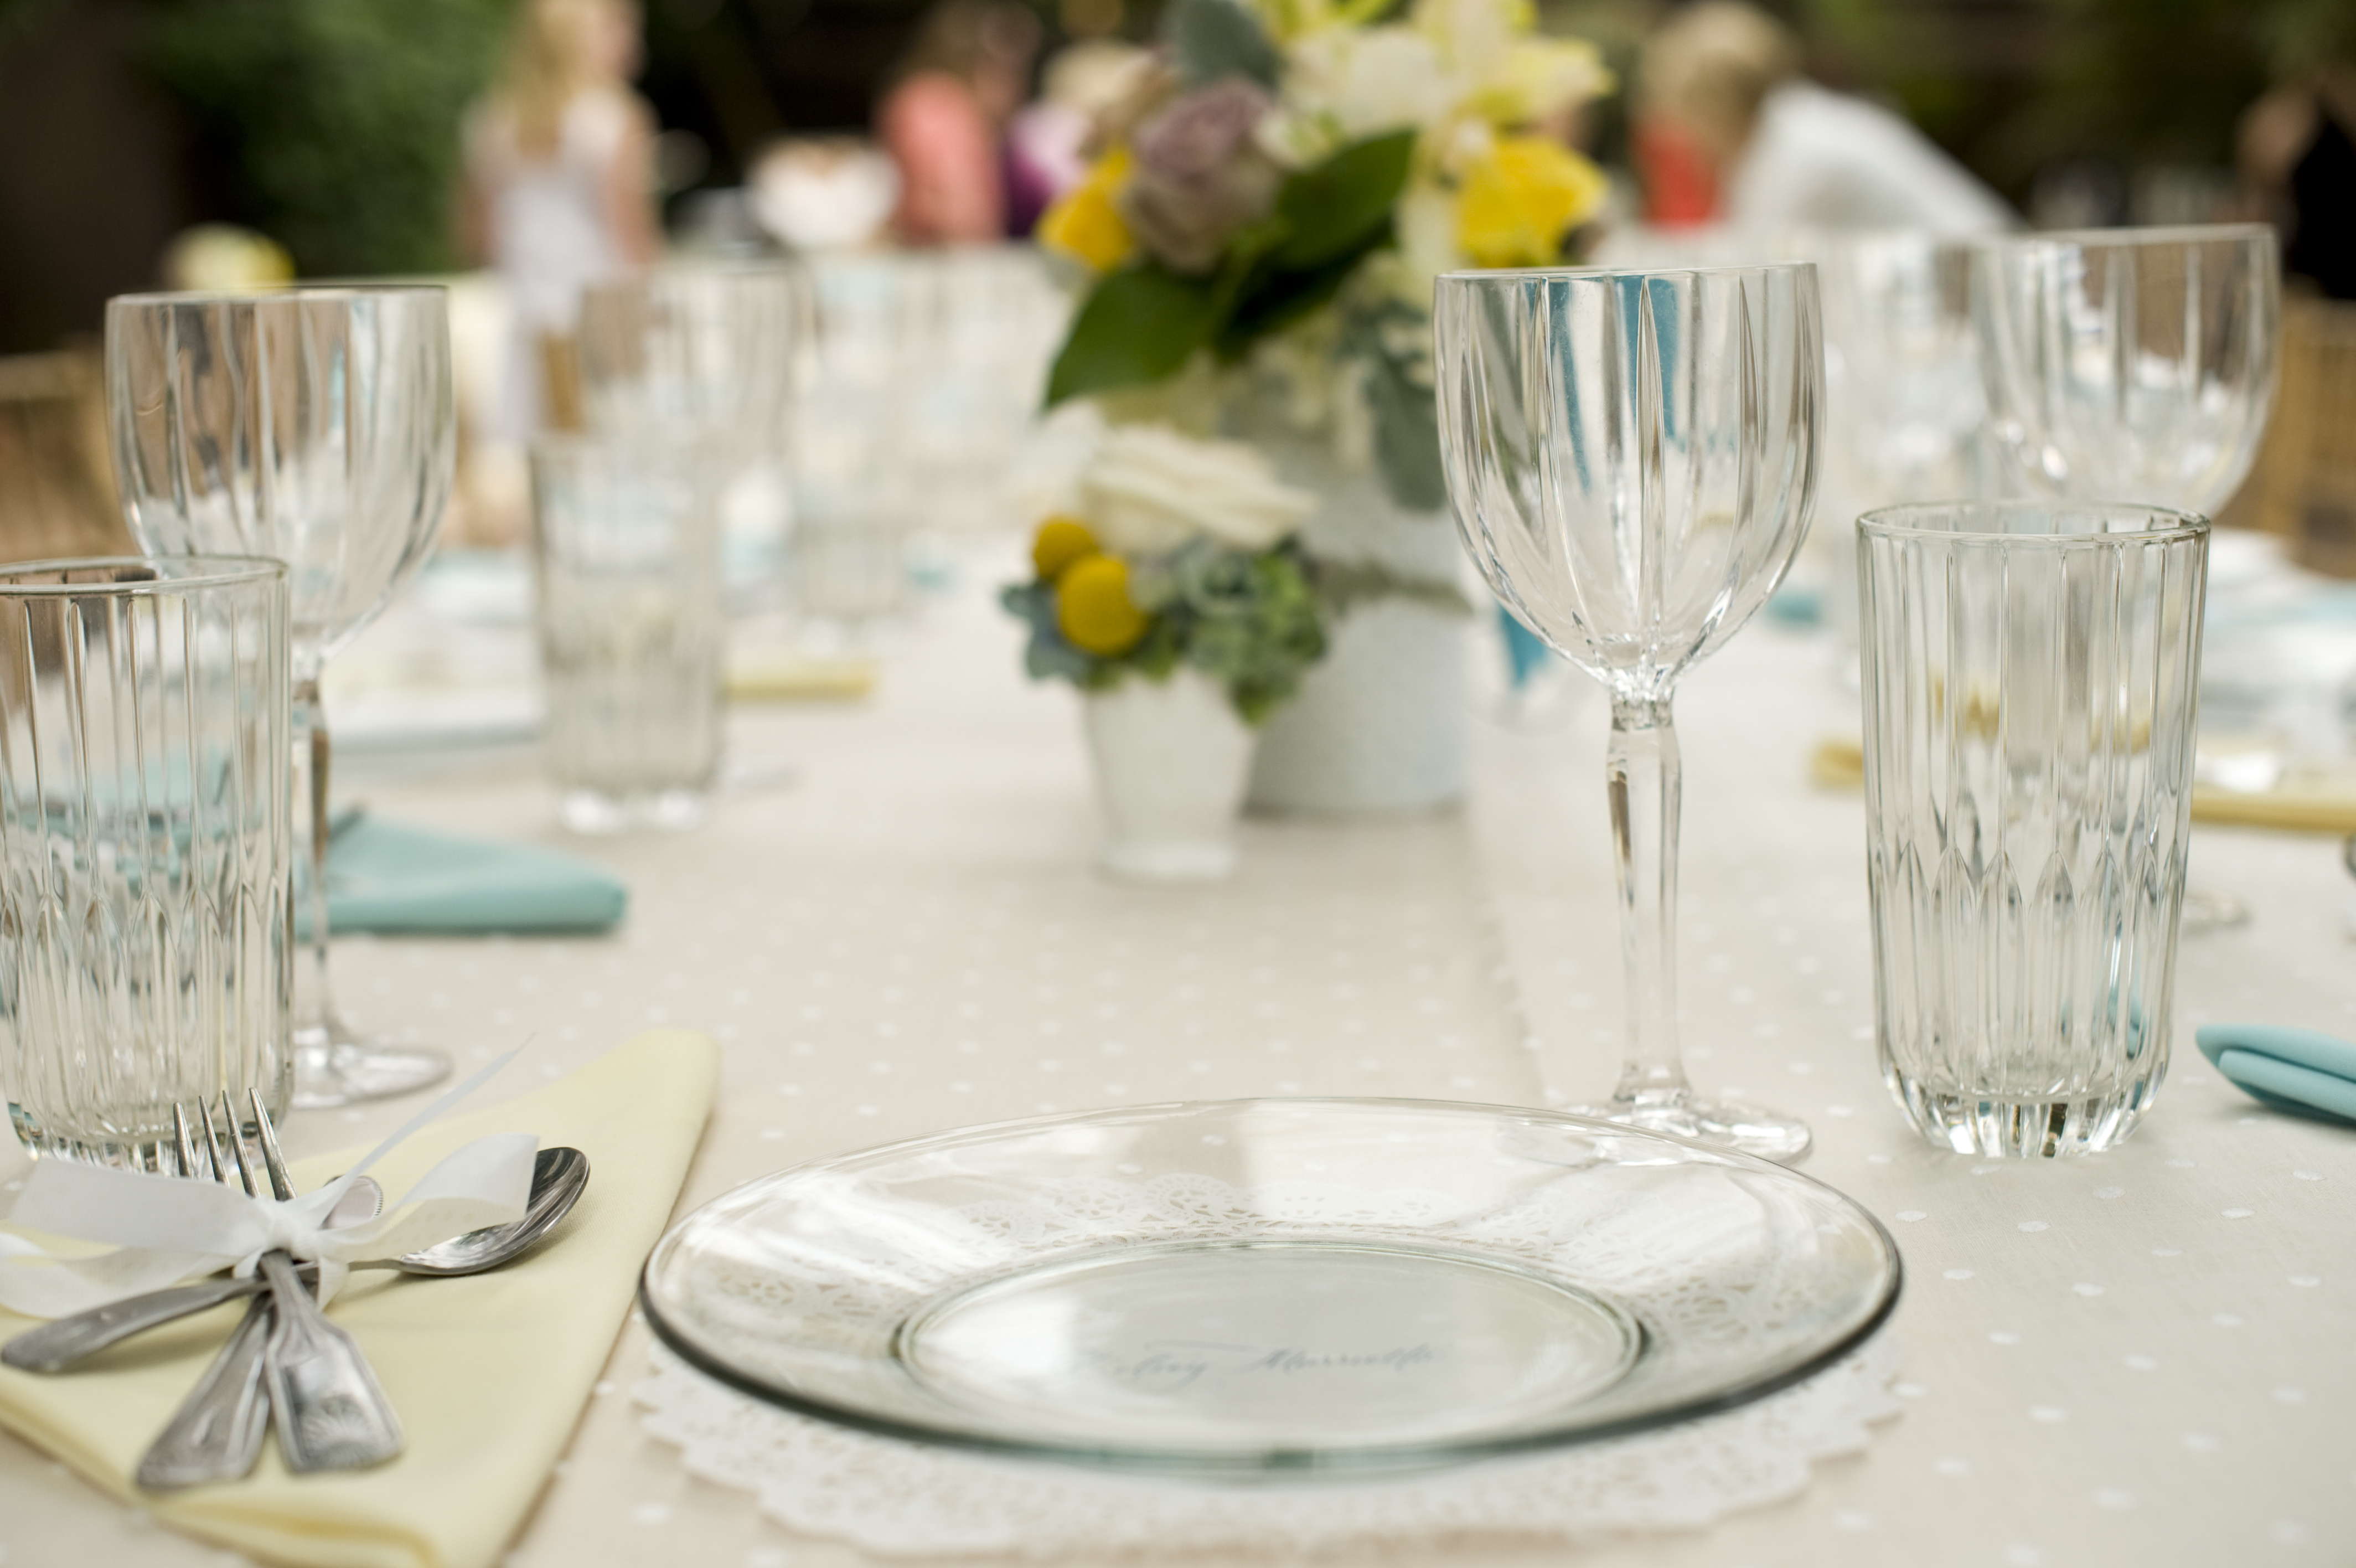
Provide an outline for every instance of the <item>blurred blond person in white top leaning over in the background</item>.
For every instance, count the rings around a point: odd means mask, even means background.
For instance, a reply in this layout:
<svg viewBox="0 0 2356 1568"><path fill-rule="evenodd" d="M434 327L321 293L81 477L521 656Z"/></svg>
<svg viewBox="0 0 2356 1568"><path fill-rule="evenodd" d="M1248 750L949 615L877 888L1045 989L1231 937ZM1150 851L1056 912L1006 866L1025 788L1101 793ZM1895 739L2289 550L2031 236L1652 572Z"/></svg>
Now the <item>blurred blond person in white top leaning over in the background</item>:
<svg viewBox="0 0 2356 1568"><path fill-rule="evenodd" d="M2007 229L1996 191L1904 118L1800 75L1800 40L1741 0L1644 42L1633 144L1661 222L1739 229Z"/></svg>

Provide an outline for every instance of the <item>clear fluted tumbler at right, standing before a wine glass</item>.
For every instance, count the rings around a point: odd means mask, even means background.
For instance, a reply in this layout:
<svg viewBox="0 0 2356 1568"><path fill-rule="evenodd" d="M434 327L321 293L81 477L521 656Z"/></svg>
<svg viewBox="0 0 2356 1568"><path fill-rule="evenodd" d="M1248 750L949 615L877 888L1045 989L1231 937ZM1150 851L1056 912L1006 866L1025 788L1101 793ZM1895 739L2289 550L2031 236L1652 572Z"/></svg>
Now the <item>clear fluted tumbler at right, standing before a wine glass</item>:
<svg viewBox="0 0 2356 1568"><path fill-rule="evenodd" d="M1941 1148L2109 1148L2168 1068L2208 521L1958 502L1859 533L1882 1080Z"/></svg>

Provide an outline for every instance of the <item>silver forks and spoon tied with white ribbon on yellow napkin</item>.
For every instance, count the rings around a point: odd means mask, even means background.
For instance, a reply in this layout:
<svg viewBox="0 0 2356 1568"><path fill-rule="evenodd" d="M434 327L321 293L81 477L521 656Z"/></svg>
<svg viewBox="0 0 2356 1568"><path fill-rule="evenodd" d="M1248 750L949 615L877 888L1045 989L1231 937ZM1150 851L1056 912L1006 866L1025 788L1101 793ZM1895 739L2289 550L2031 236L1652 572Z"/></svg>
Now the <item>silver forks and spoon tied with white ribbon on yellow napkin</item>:
<svg viewBox="0 0 2356 1568"><path fill-rule="evenodd" d="M292 1198L294 1186L257 1092L247 1092L247 1111L252 1153L224 1092L217 1106L174 1106L174 1141L144 1151L139 1165L160 1174L238 1184L247 1195L262 1195L266 1184L271 1198ZM547 1236L587 1184L589 1160L582 1151L542 1148L532 1162L532 1195L523 1219L351 1266L445 1278L497 1269ZM346 1205L356 1210L351 1221L368 1219L382 1205L382 1191L363 1177ZM139 1462L141 1488L236 1481L252 1471L262 1438L273 1427L278 1450L297 1474L368 1469L401 1452L401 1419L375 1370L358 1342L320 1311L316 1271L287 1252L266 1252L252 1278L198 1280L57 1318L0 1346L0 1363L61 1372L132 1335L240 1297L252 1297L245 1318Z"/></svg>

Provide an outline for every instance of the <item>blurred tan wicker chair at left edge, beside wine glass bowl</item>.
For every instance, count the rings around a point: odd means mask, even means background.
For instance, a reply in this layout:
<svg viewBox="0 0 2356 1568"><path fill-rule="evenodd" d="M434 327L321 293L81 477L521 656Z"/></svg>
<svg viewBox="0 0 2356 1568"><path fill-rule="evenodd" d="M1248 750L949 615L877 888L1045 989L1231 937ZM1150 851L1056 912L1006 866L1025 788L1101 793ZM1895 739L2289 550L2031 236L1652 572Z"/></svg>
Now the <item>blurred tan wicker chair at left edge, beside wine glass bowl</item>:
<svg viewBox="0 0 2356 1568"><path fill-rule="evenodd" d="M106 453L94 351L0 358L0 561L139 554Z"/></svg>

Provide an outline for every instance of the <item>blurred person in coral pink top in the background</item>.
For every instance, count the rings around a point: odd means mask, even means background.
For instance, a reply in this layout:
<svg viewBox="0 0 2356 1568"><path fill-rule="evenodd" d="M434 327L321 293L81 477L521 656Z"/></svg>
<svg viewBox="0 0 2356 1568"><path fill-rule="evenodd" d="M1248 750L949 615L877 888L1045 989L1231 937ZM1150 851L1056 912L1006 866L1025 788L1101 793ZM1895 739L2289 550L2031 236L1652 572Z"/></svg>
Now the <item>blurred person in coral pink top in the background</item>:
<svg viewBox="0 0 2356 1568"><path fill-rule="evenodd" d="M1001 132L1030 94L1039 19L1013 0L938 0L876 104L900 165L893 231L907 245L1006 238Z"/></svg>

